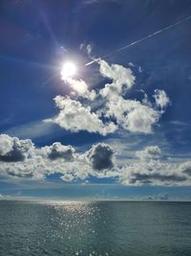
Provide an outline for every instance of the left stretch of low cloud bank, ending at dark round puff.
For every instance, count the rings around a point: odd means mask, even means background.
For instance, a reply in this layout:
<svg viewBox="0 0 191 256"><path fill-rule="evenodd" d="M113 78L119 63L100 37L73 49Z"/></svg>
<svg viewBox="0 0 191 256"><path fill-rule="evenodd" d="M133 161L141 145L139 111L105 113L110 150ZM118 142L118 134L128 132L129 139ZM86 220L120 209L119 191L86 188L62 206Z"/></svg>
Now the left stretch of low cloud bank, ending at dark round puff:
<svg viewBox="0 0 191 256"><path fill-rule="evenodd" d="M0 138L1 154L5 155L12 151L15 141L20 144L24 144L24 142L26 144L28 141L23 142L5 134L2 134ZM12 148L10 142L12 142ZM9 151L6 150L6 145L8 145ZM63 181L72 182L85 180L89 175L97 176L96 171L101 173L101 171L110 170L114 166L114 151L103 143L93 145L89 151L81 153L75 152L74 147L62 145L59 142L40 149L35 148L32 144L31 153L26 153L23 148L22 153L21 161L15 157L9 161L3 159L4 161L0 165L0 176L41 179L48 175L60 174Z"/></svg>

